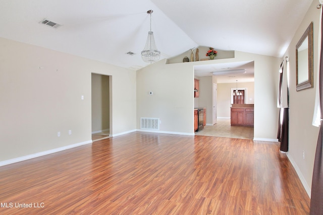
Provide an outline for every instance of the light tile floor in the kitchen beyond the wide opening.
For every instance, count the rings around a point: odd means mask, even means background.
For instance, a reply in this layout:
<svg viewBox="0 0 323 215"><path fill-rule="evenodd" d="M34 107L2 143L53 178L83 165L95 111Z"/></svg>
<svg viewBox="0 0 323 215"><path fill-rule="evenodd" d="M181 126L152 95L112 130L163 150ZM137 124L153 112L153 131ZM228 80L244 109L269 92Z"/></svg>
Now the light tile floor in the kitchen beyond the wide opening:
<svg viewBox="0 0 323 215"><path fill-rule="evenodd" d="M217 124L206 125L195 135L253 139L253 127L231 126L230 119L218 119Z"/></svg>

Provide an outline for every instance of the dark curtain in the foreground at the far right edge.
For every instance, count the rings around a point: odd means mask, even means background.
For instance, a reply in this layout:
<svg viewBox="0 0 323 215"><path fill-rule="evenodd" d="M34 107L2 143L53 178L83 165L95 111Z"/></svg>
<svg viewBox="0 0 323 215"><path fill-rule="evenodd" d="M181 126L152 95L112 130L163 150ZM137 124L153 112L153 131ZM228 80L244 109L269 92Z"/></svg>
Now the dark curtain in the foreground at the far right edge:
<svg viewBox="0 0 323 215"><path fill-rule="evenodd" d="M321 26L322 26L321 20ZM321 29L321 35L323 31ZM319 59L319 99L320 99L320 111L321 111L321 125L319 127L319 133L317 138L317 146L314 158L314 169L312 177L311 188L311 205L310 215L323 214L323 158L322 158L322 144L323 144L323 131L322 131L322 113L323 113L323 43L321 38L321 50Z"/></svg>

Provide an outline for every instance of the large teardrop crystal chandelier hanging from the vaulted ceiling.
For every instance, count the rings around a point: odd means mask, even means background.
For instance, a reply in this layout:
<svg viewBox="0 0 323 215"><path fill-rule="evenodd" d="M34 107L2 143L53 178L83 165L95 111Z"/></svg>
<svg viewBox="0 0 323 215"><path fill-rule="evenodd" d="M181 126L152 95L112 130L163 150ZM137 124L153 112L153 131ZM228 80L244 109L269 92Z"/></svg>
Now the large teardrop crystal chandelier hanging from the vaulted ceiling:
<svg viewBox="0 0 323 215"><path fill-rule="evenodd" d="M147 14L150 15L150 31L148 32L146 45L141 52L141 57L143 61L153 63L159 60L160 51L157 50L155 39L153 38L153 32L151 31L151 14L152 10L147 11Z"/></svg>

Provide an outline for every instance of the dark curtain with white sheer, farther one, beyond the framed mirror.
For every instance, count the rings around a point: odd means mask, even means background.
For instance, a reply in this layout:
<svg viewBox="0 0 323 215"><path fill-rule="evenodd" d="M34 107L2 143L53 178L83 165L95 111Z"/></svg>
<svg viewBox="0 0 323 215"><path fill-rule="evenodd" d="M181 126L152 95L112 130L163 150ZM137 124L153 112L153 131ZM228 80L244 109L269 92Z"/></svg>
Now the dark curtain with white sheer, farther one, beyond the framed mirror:
<svg viewBox="0 0 323 215"><path fill-rule="evenodd" d="M279 106L281 106L281 102L283 100L284 96L287 96L287 101L288 101L288 93L287 95L282 95L283 94L283 76L284 73L286 73L286 68L284 68L286 59L281 64L281 75L280 75L280 82L279 82ZM287 107L281 107L279 111L279 119L278 119L278 132L277 132L277 138L278 141L281 142L281 148L280 151L282 152L288 152L288 130L289 130L289 108Z"/></svg>

